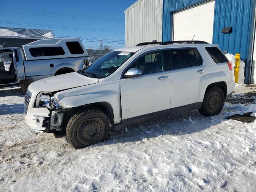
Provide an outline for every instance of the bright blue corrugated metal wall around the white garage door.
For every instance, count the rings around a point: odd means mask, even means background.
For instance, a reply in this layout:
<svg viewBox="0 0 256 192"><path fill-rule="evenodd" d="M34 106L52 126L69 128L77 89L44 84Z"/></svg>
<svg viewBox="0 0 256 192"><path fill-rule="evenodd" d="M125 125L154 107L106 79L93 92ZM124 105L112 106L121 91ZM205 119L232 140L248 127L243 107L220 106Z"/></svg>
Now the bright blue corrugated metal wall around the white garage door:
<svg viewBox="0 0 256 192"><path fill-rule="evenodd" d="M172 40L172 14L205 0L163 0L163 41ZM240 53L248 59L250 49L253 0L215 0L213 43L227 53ZM221 33L232 26L231 34ZM250 64L246 66L246 82L250 76Z"/></svg>

